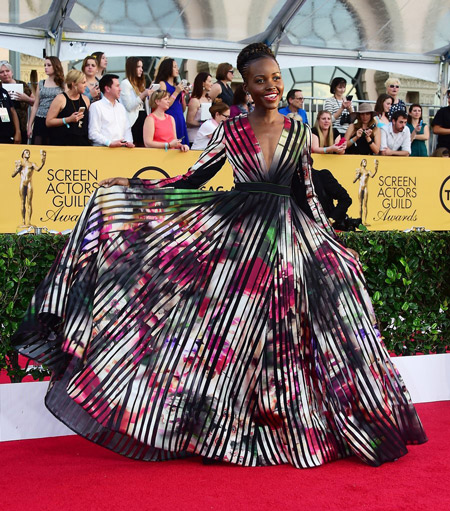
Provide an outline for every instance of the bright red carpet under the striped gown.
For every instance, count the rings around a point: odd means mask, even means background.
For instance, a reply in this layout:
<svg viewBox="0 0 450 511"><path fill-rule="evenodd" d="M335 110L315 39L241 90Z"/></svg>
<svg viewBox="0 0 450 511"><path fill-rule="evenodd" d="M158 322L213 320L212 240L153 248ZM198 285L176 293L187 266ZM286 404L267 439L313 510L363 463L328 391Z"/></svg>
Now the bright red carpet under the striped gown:
<svg viewBox="0 0 450 511"><path fill-rule="evenodd" d="M417 405L429 437L379 468L355 458L321 468L131 461L79 437L0 443L8 511L449 511L450 401Z"/></svg>

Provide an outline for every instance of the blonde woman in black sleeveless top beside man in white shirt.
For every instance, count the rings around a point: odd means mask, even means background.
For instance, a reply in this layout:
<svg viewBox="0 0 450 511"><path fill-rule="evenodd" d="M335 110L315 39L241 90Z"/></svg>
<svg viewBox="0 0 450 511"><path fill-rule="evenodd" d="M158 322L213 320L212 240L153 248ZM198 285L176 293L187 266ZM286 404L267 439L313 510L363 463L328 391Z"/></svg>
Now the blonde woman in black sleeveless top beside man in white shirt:
<svg viewBox="0 0 450 511"><path fill-rule="evenodd" d="M88 137L90 101L83 95L86 76L71 69L65 79L67 92L58 94L48 110L45 124L52 145L91 145Z"/></svg>

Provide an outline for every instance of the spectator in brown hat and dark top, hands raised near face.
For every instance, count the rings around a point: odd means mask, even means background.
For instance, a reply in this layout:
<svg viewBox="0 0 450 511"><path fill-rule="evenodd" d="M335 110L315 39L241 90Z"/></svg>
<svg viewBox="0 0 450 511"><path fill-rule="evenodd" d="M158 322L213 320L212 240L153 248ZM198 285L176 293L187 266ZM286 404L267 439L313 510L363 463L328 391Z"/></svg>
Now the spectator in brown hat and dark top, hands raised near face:
<svg viewBox="0 0 450 511"><path fill-rule="evenodd" d="M376 112L369 103L361 103L359 111L350 115L351 124L345 134L345 154L378 154L381 132L375 120ZM355 122L356 120L356 122Z"/></svg>

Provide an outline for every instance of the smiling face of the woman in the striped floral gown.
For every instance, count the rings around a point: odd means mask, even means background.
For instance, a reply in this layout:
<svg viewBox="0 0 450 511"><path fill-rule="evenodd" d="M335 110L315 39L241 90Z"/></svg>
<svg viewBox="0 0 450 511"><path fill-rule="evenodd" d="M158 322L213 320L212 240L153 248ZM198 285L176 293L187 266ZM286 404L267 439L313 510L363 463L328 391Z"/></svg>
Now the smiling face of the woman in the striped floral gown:
<svg viewBox="0 0 450 511"><path fill-rule="evenodd" d="M247 68L245 90L251 94L255 108L278 108L283 97L284 83L277 62L270 57L251 62Z"/></svg>

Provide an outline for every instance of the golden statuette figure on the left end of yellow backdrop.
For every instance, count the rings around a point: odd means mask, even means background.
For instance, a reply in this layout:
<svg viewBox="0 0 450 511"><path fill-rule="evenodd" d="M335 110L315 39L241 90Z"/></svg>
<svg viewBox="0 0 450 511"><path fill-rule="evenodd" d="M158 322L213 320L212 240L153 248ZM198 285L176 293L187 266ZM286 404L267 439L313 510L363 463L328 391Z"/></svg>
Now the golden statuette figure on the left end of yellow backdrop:
<svg viewBox="0 0 450 511"><path fill-rule="evenodd" d="M20 174L19 197L22 225L19 226L19 229L31 226L31 216L33 214L33 174L34 171L39 172L42 169L47 156L47 153L42 149L40 153L40 166L30 161L31 153L29 149L24 149L22 158L15 161L15 169L12 173L12 177L16 177L17 174Z"/></svg>

